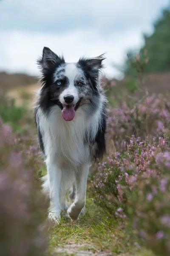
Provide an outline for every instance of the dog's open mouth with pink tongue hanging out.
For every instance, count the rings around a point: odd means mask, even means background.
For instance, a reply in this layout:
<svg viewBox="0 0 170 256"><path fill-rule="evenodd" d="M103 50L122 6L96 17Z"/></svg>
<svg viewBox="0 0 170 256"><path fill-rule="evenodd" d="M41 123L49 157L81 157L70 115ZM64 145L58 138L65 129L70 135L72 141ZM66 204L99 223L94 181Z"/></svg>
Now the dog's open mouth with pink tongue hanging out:
<svg viewBox="0 0 170 256"><path fill-rule="evenodd" d="M61 102L59 102L59 107L62 110L62 117L65 121L72 121L74 119L75 112L79 108L81 100L82 98L79 99L76 105L64 105Z"/></svg>

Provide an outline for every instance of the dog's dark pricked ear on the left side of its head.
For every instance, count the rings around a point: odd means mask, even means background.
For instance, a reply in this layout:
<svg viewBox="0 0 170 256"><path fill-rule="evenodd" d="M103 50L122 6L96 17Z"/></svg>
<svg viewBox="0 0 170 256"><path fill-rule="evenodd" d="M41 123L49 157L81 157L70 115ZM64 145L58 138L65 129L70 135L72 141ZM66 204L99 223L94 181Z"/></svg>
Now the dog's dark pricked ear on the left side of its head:
<svg viewBox="0 0 170 256"><path fill-rule="evenodd" d="M42 58L37 60L37 64L45 75L49 70L56 68L59 64L65 63L64 57L59 57L50 48L44 47Z"/></svg>

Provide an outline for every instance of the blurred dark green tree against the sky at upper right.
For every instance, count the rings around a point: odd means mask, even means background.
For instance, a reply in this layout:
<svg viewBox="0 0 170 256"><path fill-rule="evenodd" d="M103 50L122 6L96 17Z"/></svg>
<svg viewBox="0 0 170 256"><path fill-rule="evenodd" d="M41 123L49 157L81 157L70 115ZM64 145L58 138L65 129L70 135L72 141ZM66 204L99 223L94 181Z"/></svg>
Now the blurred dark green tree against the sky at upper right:
<svg viewBox="0 0 170 256"><path fill-rule="evenodd" d="M147 50L149 62L144 68L144 73L170 71L170 8L162 12L161 18L154 23L152 35L144 35L144 47L140 49L140 55ZM133 57L136 52L130 51ZM125 74L134 74L132 68L125 64Z"/></svg>

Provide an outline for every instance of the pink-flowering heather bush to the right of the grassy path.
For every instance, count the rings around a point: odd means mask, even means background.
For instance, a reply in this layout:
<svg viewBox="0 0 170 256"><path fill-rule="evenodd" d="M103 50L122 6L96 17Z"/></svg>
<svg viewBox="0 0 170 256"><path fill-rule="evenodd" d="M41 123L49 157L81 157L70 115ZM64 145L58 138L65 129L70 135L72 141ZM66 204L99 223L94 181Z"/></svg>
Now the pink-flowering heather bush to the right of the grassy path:
<svg viewBox="0 0 170 256"><path fill-rule="evenodd" d="M111 109L114 151L91 180L94 201L126 221L159 256L170 255L170 111L163 96Z"/></svg>

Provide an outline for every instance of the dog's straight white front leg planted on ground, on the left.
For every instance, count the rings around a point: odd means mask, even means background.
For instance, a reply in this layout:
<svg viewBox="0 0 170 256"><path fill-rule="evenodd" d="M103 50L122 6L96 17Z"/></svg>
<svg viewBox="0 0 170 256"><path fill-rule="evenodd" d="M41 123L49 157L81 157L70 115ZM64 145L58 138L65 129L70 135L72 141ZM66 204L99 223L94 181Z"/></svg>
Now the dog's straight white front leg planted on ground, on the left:
<svg viewBox="0 0 170 256"><path fill-rule="evenodd" d="M57 162L54 159L47 159L47 172L50 188L50 211L48 218L54 221L60 221L60 185L62 178L62 171L58 168Z"/></svg>

